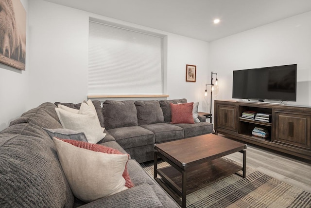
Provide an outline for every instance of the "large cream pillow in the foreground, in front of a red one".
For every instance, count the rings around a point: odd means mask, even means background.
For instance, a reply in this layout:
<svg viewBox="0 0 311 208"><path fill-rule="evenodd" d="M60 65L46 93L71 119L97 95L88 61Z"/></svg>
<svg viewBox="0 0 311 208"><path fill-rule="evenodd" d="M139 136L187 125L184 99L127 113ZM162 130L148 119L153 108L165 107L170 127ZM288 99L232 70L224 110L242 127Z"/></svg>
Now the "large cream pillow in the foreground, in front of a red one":
<svg viewBox="0 0 311 208"><path fill-rule="evenodd" d="M73 194L84 202L128 189L122 173L127 154L107 154L75 147L53 137L57 156Z"/></svg>

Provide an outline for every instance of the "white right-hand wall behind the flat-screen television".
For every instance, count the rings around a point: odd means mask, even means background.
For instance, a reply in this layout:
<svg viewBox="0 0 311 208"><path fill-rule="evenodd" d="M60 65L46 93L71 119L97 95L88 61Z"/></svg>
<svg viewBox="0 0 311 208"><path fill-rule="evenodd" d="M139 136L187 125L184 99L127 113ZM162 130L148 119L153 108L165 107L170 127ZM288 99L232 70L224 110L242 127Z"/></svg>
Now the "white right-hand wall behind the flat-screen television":
<svg viewBox="0 0 311 208"><path fill-rule="evenodd" d="M311 106L311 12L209 43L209 70L217 71L215 99L232 99L232 71L297 64L297 101Z"/></svg>

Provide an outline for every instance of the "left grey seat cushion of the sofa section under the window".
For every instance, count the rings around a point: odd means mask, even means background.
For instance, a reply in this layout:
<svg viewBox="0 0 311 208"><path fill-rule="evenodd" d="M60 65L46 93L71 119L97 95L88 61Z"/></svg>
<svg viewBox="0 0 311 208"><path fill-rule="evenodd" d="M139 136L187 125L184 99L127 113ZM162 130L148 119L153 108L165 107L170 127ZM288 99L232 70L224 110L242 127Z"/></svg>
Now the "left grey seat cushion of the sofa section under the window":
<svg viewBox="0 0 311 208"><path fill-rule="evenodd" d="M108 132L125 150L155 143L154 133L140 126L110 129Z"/></svg>

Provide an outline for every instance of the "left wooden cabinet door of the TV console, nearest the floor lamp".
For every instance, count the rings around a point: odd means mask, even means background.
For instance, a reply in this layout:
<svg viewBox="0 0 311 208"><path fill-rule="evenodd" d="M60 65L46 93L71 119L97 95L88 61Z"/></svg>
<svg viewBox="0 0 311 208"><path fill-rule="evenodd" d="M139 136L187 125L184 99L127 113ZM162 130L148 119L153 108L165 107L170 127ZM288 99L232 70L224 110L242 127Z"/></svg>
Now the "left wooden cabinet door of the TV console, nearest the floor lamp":
<svg viewBox="0 0 311 208"><path fill-rule="evenodd" d="M237 132L238 131L237 113L238 113L237 106L218 105L217 123L216 123L217 127Z"/></svg>

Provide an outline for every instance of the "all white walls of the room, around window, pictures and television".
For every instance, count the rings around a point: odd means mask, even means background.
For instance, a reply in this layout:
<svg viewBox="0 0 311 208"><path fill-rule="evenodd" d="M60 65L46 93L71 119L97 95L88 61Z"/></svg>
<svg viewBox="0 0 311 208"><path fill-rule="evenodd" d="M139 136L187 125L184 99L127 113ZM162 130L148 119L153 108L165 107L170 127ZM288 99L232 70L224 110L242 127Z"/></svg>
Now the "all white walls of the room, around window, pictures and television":
<svg viewBox="0 0 311 208"><path fill-rule="evenodd" d="M213 98L231 99L233 70L297 63L294 104L311 105L311 12L207 43L42 0L22 3L28 16L26 71L0 65L0 130L43 102L86 99L89 17L167 35L168 99L199 101L199 110L209 112L204 91L211 71L219 79ZM186 64L197 66L195 83L185 81Z"/></svg>

